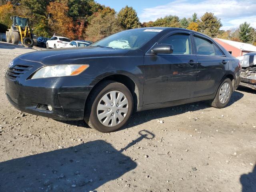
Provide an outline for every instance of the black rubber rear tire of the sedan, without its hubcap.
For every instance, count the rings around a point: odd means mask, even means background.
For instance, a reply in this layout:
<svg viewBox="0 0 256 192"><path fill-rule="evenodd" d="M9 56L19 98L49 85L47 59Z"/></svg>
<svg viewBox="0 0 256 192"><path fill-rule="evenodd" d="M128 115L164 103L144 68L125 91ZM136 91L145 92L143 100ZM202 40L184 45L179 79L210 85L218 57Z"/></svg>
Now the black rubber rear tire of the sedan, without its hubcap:
<svg viewBox="0 0 256 192"><path fill-rule="evenodd" d="M224 104L222 104L222 103L220 102L219 96L220 96L221 87L222 87L222 85L223 85L224 83L228 83L229 86L230 86L230 96L228 97L228 99L226 100L226 102L225 102ZM218 91L217 91L217 93L216 93L215 98L214 98L212 101L210 101L210 106L215 107L215 108L224 108L224 107L228 104L228 102L229 102L229 100L230 100L230 97L231 97L231 95L232 95L232 92L233 92L233 86L232 86L232 82L231 82L230 78L224 79L224 81L220 84L220 86L219 86L219 88L218 88Z"/></svg>

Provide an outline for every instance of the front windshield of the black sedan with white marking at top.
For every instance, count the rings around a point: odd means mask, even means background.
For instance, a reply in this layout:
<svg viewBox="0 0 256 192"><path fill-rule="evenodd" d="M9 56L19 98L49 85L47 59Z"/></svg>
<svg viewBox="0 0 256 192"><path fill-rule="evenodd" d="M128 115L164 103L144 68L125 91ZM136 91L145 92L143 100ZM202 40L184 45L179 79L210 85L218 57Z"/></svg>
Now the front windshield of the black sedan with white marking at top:
<svg viewBox="0 0 256 192"><path fill-rule="evenodd" d="M108 36L102 40L91 44L90 46L104 46L116 49L135 50L140 48L142 45L144 45L161 31L161 29L144 28L139 28L136 30L126 30Z"/></svg>

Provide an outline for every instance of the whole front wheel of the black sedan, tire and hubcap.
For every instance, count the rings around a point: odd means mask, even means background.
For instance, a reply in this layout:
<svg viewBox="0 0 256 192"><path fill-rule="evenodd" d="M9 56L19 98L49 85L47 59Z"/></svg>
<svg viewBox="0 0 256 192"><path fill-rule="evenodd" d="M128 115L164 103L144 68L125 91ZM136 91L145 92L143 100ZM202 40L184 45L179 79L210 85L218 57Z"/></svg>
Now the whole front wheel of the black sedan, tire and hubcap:
<svg viewBox="0 0 256 192"><path fill-rule="evenodd" d="M84 120L100 132L112 132L124 126L132 110L130 90L122 83L104 81L86 101Z"/></svg>

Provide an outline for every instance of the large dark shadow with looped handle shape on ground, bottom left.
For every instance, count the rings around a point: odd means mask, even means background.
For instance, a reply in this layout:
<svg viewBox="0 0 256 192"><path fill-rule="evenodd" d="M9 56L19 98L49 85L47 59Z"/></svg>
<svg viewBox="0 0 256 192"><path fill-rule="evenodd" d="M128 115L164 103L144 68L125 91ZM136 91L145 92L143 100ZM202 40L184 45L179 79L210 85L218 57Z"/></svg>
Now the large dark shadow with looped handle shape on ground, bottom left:
<svg viewBox="0 0 256 192"><path fill-rule="evenodd" d="M143 138L146 132L120 151L103 140L44 152L0 163L0 191L90 191L136 168L122 154Z"/></svg>

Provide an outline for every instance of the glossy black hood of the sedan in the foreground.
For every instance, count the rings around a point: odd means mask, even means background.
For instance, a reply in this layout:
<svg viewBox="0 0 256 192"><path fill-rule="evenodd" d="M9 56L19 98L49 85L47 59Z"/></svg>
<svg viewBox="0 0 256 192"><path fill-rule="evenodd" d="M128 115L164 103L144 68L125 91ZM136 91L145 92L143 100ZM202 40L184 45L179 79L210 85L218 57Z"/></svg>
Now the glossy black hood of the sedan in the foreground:
<svg viewBox="0 0 256 192"><path fill-rule="evenodd" d="M58 65L71 64L76 59L123 56L128 52L129 50L88 46L29 52L17 58L40 62L44 65Z"/></svg>

